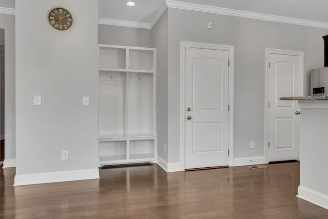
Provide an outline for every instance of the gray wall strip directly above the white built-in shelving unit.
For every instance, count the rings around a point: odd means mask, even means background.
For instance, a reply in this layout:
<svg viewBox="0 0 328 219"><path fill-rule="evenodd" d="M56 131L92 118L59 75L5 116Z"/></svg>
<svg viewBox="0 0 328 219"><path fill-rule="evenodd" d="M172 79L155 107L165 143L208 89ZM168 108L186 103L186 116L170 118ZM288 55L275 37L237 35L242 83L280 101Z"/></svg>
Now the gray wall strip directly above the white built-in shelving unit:
<svg viewBox="0 0 328 219"><path fill-rule="evenodd" d="M151 30L99 24L98 43L121 46L151 47Z"/></svg>

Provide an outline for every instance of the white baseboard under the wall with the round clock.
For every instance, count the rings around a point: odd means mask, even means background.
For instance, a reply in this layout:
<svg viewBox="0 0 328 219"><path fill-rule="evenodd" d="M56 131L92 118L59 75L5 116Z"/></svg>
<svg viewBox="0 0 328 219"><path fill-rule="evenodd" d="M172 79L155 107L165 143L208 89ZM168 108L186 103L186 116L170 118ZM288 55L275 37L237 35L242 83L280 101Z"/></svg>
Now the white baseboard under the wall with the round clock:
<svg viewBox="0 0 328 219"><path fill-rule="evenodd" d="M15 176L14 186L41 183L56 183L76 180L92 180L95 178L99 178L98 169L21 174Z"/></svg>

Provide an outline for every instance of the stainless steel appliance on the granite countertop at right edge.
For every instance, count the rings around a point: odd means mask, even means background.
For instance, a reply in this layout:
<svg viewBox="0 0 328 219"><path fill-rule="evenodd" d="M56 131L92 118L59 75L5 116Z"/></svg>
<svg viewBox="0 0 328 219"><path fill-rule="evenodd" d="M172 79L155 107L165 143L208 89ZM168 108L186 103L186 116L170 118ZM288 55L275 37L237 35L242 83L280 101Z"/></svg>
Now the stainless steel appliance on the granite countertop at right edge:
<svg viewBox="0 0 328 219"><path fill-rule="evenodd" d="M311 95L328 95L328 67L311 70Z"/></svg>

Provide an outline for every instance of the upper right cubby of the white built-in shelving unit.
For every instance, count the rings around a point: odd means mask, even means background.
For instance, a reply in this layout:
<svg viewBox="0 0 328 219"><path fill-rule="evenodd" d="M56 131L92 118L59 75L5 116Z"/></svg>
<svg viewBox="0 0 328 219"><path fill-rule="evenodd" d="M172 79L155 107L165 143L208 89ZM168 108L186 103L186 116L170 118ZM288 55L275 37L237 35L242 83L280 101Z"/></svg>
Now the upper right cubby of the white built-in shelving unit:
<svg viewBox="0 0 328 219"><path fill-rule="evenodd" d="M154 70L154 51L129 49L129 69Z"/></svg>

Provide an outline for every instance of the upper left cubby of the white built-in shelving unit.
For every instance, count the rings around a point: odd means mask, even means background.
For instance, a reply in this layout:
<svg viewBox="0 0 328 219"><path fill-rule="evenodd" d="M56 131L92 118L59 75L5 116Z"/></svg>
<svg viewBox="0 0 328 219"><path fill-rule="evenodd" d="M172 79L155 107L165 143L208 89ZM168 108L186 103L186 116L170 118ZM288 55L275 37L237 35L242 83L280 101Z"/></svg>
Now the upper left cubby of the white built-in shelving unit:
<svg viewBox="0 0 328 219"><path fill-rule="evenodd" d="M127 50L125 48L99 47L100 69L126 69Z"/></svg>

